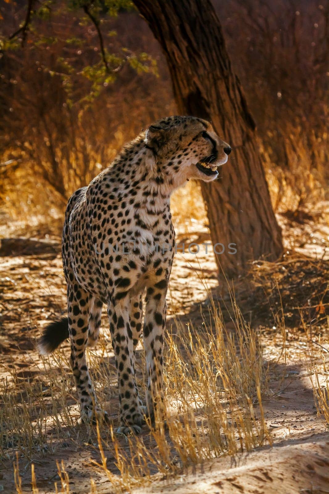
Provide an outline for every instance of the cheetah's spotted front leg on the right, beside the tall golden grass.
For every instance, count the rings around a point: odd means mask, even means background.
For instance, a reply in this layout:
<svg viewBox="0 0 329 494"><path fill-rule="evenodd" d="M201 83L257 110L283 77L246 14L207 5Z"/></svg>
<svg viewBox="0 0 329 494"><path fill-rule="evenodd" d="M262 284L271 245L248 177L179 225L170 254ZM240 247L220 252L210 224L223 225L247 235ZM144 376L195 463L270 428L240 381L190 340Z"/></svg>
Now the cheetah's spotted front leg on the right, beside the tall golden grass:
<svg viewBox="0 0 329 494"><path fill-rule="evenodd" d="M147 288L144 319L144 347L148 374L146 406L150 418L163 419L163 335L167 315L167 280ZM157 411L154 416L155 409Z"/></svg>

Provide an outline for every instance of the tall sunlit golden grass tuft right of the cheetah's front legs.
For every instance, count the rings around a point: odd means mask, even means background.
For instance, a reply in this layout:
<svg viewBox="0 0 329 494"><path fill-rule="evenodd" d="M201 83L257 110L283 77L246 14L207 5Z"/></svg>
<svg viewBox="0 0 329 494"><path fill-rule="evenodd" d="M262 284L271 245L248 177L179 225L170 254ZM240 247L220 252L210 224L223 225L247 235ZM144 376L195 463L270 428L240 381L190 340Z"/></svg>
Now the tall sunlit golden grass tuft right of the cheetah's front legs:
<svg viewBox="0 0 329 494"><path fill-rule="evenodd" d="M242 321L238 309L236 315L232 331L216 310L213 327L204 322L196 330L178 322L168 334L166 427L160 422L150 427L149 438L128 437L128 449L112 429L109 444L97 428L101 462L95 464L116 492L151 483L156 472L177 474L191 464L271 443L262 408L267 374L259 335ZM119 478L107 467L104 454L113 448Z"/></svg>

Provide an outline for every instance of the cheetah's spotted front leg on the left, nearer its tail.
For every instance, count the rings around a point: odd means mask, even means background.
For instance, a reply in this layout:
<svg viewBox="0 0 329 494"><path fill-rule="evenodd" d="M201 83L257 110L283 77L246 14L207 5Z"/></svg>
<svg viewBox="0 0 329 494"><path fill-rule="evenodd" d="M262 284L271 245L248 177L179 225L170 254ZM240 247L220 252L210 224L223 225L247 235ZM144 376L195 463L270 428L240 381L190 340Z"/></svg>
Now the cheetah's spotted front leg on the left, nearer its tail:
<svg viewBox="0 0 329 494"><path fill-rule="evenodd" d="M130 326L128 307L128 296L116 300L115 293L108 304L120 403L120 420L116 432L139 434L145 422L145 409L142 407L135 380L133 331Z"/></svg>

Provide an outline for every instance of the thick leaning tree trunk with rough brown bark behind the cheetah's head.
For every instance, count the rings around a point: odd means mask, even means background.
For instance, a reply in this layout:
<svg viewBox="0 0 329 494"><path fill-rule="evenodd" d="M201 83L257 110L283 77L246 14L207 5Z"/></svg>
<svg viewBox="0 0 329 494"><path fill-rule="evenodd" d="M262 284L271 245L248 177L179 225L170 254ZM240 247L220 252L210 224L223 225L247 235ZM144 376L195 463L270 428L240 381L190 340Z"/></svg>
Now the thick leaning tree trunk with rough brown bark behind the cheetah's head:
<svg viewBox="0 0 329 494"><path fill-rule="evenodd" d="M181 115L211 121L233 151L220 178L201 182L219 272L231 278L252 260L282 252L256 142L256 125L232 72L219 19L210 0L134 0L167 58ZM236 244L229 254L228 244ZM222 247L217 247L218 252Z"/></svg>

